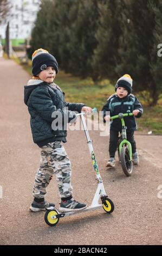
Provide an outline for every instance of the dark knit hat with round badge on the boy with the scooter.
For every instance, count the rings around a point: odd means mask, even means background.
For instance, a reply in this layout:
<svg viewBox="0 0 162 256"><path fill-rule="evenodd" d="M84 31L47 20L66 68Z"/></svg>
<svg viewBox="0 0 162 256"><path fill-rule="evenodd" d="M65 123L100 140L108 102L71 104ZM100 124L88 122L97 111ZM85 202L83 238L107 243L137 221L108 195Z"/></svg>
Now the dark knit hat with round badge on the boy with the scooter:
<svg viewBox="0 0 162 256"><path fill-rule="evenodd" d="M32 57L32 73L37 76L41 71L46 69L48 66L53 66L56 74L59 71L57 60L53 55L48 52L39 51Z"/></svg>

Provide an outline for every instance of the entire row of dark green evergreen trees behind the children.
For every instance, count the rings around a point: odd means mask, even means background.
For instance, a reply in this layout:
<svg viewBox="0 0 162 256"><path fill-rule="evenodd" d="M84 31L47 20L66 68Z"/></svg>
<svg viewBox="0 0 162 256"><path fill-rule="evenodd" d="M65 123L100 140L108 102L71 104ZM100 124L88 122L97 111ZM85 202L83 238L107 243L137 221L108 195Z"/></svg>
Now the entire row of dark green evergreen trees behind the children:
<svg viewBox="0 0 162 256"><path fill-rule="evenodd" d="M159 0L42 0L31 46L82 79L114 83L129 74L133 93L154 106L162 94L161 13Z"/></svg>

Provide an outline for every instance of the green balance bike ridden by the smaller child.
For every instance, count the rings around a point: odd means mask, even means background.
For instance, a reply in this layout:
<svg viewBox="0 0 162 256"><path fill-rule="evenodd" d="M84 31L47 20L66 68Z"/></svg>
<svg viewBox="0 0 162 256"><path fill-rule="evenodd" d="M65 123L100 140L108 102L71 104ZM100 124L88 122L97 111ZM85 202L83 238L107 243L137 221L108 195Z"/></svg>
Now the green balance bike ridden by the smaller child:
<svg viewBox="0 0 162 256"><path fill-rule="evenodd" d="M118 157L119 162L121 163L121 168L126 176L131 176L133 171L133 158L132 158L132 146L131 143L127 141L127 134L125 126L124 117L131 117L133 113L119 113L114 115L110 119L119 118L121 120L121 133L118 140Z"/></svg>

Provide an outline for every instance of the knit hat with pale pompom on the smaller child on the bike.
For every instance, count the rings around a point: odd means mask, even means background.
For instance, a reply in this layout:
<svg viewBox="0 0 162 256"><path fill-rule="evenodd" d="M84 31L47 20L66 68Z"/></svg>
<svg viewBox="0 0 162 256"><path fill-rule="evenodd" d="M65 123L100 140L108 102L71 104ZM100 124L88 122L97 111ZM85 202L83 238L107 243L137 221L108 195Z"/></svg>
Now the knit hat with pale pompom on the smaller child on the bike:
<svg viewBox="0 0 162 256"><path fill-rule="evenodd" d="M115 92L118 87L124 87L128 91L128 94L132 93L132 83L133 80L131 76L125 74L124 76L120 77L116 82Z"/></svg>

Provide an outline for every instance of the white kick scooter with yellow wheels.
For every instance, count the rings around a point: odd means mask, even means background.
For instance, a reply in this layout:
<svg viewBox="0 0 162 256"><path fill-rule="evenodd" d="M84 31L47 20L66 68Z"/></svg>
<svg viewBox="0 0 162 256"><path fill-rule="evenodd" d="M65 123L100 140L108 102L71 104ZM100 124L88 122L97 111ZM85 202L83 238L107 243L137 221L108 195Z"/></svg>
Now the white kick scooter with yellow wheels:
<svg viewBox="0 0 162 256"><path fill-rule="evenodd" d="M97 112L96 108L92 109L92 112ZM56 225L59 222L60 218L62 218L62 217L79 214L79 213L85 212L85 211L92 211L92 210L96 210L96 209L100 209L100 208L103 208L103 210L105 210L108 214L111 214L111 212L114 211L114 204L113 204L112 200L109 199L106 195L105 188L103 186L103 181L101 179L101 175L99 172L98 163L96 162L96 159L95 159L92 141L89 137L89 133L87 130L85 113L82 112L80 114L77 114L77 116L80 116L82 125L83 125L83 129L86 134L88 148L89 148L90 155L92 158L93 167L94 167L94 170L96 173L96 181L98 183L98 187L96 189L92 204L90 206L88 206L86 209L71 211L71 212L59 212L59 210L53 206L47 208L46 214L44 215L44 221L50 226ZM99 199L101 199L101 203L99 203Z"/></svg>

